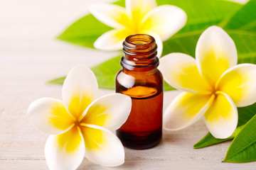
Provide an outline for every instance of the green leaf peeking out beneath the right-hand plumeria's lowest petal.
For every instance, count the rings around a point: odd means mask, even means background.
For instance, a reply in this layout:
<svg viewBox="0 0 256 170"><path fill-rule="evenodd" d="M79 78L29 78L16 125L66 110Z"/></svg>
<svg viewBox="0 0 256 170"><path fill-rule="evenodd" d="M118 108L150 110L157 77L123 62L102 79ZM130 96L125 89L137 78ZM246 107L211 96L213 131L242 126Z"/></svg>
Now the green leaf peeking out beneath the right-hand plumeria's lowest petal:
<svg viewBox="0 0 256 170"><path fill-rule="evenodd" d="M195 149L208 147L210 145L214 145L220 142L224 142L227 140L232 140L238 133L242 130L242 127L249 121L254 115L256 111L256 103L252 104L251 106L247 106L244 108L238 108L238 128L235 130L233 135L226 139L217 139L210 134L210 132L203 137L199 142L197 142L193 147Z"/></svg>

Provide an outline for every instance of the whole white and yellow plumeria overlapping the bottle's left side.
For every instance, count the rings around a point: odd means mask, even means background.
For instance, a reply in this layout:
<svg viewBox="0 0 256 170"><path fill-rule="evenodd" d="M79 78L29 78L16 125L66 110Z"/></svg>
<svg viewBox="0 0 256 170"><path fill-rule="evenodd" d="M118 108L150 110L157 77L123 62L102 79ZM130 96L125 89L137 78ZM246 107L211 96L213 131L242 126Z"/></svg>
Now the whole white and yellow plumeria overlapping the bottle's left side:
<svg viewBox="0 0 256 170"><path fill-rule="evenodd" d="M77 169L86 157L95 164L124 163L124 147L110 130L127 120L132 100L110 94L95 100L97 80L90 69L73 68L63 84L63 101L40 98L28 107L28 118L50 134L45 155L49 169Z"/></svg>

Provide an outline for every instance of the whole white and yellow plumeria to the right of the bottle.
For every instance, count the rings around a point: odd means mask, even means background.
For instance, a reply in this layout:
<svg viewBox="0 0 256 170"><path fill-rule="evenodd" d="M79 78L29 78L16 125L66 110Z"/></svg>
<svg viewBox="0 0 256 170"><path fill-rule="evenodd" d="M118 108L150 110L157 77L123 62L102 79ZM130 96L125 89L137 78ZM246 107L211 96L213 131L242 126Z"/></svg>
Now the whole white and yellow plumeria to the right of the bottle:
<svg viewBox="0 0 256 170"><path fill-rule="evenodd" d="M204 115L216 138L233 134L238 125L236 107L256 102L256 65L238 64L235 43L222 28L205 30L196 45L196 60L182 53L160 59L164 79L177 96L164 113L164 127L179 130Z"/></svg>

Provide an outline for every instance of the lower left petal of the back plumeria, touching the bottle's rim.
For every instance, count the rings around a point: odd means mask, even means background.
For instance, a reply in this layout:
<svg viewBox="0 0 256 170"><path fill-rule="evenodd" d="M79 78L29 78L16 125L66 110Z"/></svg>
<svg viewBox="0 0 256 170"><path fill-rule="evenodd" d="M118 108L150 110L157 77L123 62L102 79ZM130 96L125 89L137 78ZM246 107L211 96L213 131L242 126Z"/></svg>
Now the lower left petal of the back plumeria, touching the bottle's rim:
<svg viewBox="0 0 256 170"><path fill-rule="evenodd" d="M132 35L133 33L127 29L121 30L110 30L107 33L104 33L97 38L94 42L94 47L99 50L120 50L122 49L122 42L127 36Z"/></svg>

